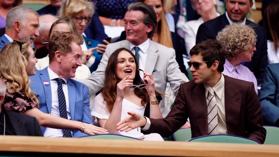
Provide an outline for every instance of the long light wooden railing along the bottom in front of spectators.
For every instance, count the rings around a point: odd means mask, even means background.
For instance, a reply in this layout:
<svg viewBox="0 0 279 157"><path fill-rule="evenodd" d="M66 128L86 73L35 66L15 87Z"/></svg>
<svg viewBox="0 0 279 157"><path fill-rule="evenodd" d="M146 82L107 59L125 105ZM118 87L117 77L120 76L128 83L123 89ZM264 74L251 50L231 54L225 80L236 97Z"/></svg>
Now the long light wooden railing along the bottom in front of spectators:
<svg viewBox="0 0 279 157"><path fill-rule="evenodd" d="M0 156L279 156L279 145L0 136ZM91 155L90 155L91 154Z"/></svg>

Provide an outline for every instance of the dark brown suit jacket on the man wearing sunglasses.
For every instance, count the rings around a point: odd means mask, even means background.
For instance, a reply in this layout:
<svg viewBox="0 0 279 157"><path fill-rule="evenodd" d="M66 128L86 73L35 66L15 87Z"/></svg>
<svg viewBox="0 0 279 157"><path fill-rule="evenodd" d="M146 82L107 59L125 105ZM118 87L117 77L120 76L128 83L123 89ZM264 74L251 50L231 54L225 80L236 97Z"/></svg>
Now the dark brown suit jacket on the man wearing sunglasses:
<svg viewBox="0 0 279 157"><path fill-rule="evenodd" d="M266 130L253 82L225 76L225 117L228 134L264 143ZM150 118L149 133L169 136L185 124L189 117L192 138L207 135L207 106L203 84L194 80L180 84L174 105L164 119ZM159 128L159 129L158 129Z"/></svg>

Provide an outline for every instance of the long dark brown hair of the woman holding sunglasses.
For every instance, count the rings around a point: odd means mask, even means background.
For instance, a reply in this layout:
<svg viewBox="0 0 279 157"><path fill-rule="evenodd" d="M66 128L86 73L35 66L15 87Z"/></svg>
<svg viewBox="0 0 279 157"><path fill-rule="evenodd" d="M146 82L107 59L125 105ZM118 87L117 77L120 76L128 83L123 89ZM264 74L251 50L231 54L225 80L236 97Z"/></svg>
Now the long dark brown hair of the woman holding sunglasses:
<svg viewBox="0 0 279 157"><path fill-rule="evenodd" d="M135 59L136 69L139 68L139 63L138 63L135 55L126 48L119 48L119 49L115 50L109 57L109 60L107 62L106 71L105 71L104 87L101 88L100 91L103 93L103 97L104 97L105 101L107 102L107 108L109 109L110 112L111 112L114 102L116 100L116 88L117 88L116 85L117 85L117 83L119 83L121 81L116 75L116 66L118 63L117 57L121 51L127 51L128 53L130 53L133 56L133 58ZM138 70L136 70L136 72L135 72L135 78L133 79L133 84L135 84L135 85L144 84L144 81L140 78L140 71L138 71ZM142 89L135 88L134 92L135 92L136 96L138 96L139 98L142 99L142 101L141 101L142 105L144 105L150 101L146 88L142 88ZM156 96L158 94L161 95L159 92L157 92L157 91L155 91L155 92L156 92Z"/></svg>

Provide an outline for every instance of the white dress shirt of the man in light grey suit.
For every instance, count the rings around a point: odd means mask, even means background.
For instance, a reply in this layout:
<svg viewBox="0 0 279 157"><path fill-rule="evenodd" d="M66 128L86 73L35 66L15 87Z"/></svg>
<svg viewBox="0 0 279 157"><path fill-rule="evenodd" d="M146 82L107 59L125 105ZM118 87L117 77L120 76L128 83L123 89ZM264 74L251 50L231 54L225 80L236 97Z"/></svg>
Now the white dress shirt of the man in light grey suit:
<svg viewBox="0 0 279 157"><path fill-rule="evenodd" d="M150 39L148 38L144 43L140 44L139 47L139 55L140 55L140 61L139 61L139 68L144 71L145 69L145 63L147 59L147 52L148 52L148 47L149 47ZM135 50L133 49L135 45L130 43L130 50L132 53L135 55ZM143 79L144 74L140 73L140 77Z"/></svg>

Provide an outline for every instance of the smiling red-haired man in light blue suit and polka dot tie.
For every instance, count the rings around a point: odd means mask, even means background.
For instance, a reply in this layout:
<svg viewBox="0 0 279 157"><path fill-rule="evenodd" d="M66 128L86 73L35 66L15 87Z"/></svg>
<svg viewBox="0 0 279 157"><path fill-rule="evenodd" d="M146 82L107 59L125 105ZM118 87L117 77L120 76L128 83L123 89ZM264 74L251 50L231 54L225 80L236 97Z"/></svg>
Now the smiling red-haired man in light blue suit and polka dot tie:
<svg viewBox="0 0 279 157"><path fill-rule="evenodd" d="M30 87L40 101L42 112L92 124L88 87L70 79L81 66L82 43L83 38L73 33L54 34L49 43L49 67L30 77ZM42 132L45 137L86 136L77 130L42 127Z"/></svg>

